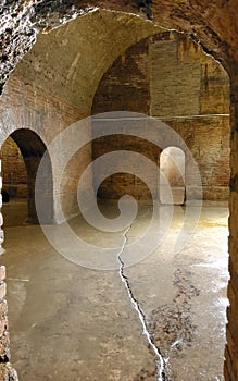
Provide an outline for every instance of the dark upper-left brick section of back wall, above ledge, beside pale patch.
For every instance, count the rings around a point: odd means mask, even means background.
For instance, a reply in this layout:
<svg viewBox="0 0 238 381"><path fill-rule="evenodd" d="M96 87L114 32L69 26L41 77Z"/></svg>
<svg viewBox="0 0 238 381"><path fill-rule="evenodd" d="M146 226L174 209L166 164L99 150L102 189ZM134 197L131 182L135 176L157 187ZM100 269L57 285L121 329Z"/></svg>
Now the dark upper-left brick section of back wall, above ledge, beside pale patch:
<svg viewBox="0 0 238 381"><path fill-rule="evenodd" d="M103 76L93 98L92 113L150 109L149 40L143 39L120 56Z"/></svg>

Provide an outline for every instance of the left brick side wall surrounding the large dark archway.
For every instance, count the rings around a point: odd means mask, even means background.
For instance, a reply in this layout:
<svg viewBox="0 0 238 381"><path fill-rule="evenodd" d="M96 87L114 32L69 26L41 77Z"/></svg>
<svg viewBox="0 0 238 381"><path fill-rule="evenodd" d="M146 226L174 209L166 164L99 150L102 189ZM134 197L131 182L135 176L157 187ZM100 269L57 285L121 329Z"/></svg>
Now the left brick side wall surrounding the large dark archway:
<svg viewBox="0 0 238 381"><path fill-rule="evenodd" d="M17 76L12 75L5 87L4 95L0 100L0 115L2 143L17 131L25 131L25 133L32 131L36 134L35 139L32 139L33 134L30 136L25 135L25 138L23 136L18 144L23 156L25 155L25 162L37 163L37 165L34 164L34 171L29 169L29 165L27 171L27 183L28 185L30 184L32 187L29 193L32 198L34 198L36 171L40 162L39 158L42 156L42 150L37 150L37 145L39 146L39 142L41 142L41 145L48 147L60 133L84 118L85 114L77 108L67 105L65 101L39 90L34 85L24 84ZM90 133L88 134L90 135ZM83 137L77 134L74 140L78 142L79 145L80 139L83 139ZM50 158L53 184L53 194L51 198L61 200L64 213L64 216L61 213L59 201L54 202L53 219L58 223L78 212L76 197L78 179L85 165L91 160L91 147L87 145L80 152L74 155L74 158L70 160L62 173L62 171L59 171L59 167L64 159L64 155L67 153L67 149L68 147L65 147L64 140L62 139L62 142L59 143L58 150L54 151ZM59 152L61 152L61 155L59 155ZM13 158L14 153L12 156L12 159ZM32 160L29 160L29 158L32 158ZM17 168L18 163L15 162L15 165ZM17 171L12 173L12 175L14 176L14 181L17 182L16 172ZM88 185L85 184L85 187L87 186ZM34 199L32 199L29 204L32 205L32 210L34 210ZM30 220L33 220L33 216Z"/></svg>

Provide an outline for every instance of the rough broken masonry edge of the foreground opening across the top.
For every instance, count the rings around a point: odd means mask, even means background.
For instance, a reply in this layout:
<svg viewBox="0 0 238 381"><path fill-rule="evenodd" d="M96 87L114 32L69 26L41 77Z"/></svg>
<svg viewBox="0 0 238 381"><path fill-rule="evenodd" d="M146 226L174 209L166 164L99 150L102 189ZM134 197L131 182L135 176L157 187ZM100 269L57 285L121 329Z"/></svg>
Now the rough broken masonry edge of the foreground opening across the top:
<svg viewBox="0 0 238 381"><path fill-rule="evenodd" d="M95 8L153 19L153 23L192 36L227 67L238 62L238 0L5 0L0 7L0 89L38 33Z"/></svg>

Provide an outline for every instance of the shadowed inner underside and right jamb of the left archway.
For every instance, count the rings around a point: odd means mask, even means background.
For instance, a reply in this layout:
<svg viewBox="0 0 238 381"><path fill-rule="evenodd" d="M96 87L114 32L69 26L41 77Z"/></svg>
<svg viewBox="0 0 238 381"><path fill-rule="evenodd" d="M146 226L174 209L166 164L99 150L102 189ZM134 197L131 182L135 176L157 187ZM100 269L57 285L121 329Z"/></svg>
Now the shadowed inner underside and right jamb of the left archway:
<svg viewBox="0 0 238 381"><path fill-rule="evenodd" d="M43 209L43 222L53 221L53 184L50 156L42 139L32 130L18 128L11 135L23 156L27 174L27 222L38 223L35 204L35 182L37 170L42 156L47 158L46 173L43 175L40 202ZM46 153L45 153L46 152Z"/></svg>

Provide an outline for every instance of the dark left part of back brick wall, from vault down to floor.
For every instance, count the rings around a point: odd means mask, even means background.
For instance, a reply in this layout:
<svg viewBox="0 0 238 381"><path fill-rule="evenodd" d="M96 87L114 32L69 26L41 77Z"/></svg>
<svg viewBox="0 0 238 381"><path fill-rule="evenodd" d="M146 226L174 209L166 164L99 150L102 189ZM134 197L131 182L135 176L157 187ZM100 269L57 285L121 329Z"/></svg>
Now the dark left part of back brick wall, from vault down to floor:
<svg viewBox="0 0 238 381"><path fill-rule="evenodd" d="M149 113L148 53L149 39L143 39L115 60L96 91L92 114L121 110ZM155 164L160 155L160 149L152 144L147 144L146 140L117 135L93 140L92 158L95 160L101 155L120 149L143 151L145 156ZM141 171L145 169L141 168ZM151 173L151 177L154 175L156 177L156 173ZM96 172L93 172L93 176L97 176ZM152 192L156 193L156 183L154 183ZM117 173L105 179L99 188L98 196L116 199L128 193L136 199L151 198L148 186L138 176L129 173Z"/></svg>

